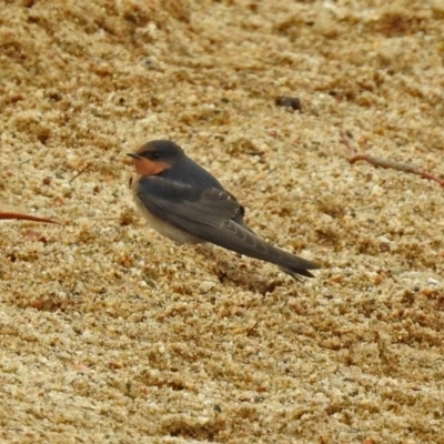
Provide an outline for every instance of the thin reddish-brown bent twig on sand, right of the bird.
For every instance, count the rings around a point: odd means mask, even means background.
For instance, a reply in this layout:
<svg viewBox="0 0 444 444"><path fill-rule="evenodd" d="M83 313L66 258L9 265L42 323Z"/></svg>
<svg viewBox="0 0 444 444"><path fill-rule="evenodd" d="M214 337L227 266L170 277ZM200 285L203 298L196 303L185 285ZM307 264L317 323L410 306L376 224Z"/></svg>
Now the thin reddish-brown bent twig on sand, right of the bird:
<svg viewBox="0 0 444 444"><path fill-rule="evenodd" d="M416 165L413 165L412 163L396 162L396 161L390 160L390 159L375 158L370 154L360 153L356 145L353 143L352 134L350 133L350 131L341 130L340 134L341 134L342 142L345 144L345 147L349 150L349 155L350 155L349 162L350 163L355 163L360 160L365 160L366 162L371 163L372 165L382 167L382 168L392 168L394 170L404 171L406 173L417 174L424 179L428 179L428 180L437 182L441 186L444 186L444 179L440 179L435 174L431 173L430 171L423 170Z"/></svg>

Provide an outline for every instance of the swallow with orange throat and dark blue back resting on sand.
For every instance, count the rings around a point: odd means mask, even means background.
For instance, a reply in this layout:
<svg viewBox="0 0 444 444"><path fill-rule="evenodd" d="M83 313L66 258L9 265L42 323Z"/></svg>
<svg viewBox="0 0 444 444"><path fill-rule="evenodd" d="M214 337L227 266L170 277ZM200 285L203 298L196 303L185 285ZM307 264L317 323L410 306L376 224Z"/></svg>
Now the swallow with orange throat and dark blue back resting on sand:
<svg viewBox="0 0 444 444"><path fill-rule="evenodd" d="M169 140L153 140L132 158L134 202L160 234L180 243L211 242L271 262L295 280L319 265L263 241L244 222L245 209L205 169Z"/></svg>

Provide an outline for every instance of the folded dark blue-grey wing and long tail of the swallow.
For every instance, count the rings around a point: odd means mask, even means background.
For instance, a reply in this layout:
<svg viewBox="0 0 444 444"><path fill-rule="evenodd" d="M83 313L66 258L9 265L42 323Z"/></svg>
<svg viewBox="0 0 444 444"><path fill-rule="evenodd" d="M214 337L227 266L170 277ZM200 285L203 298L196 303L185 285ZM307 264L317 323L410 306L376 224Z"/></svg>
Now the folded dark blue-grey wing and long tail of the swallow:
<svg viewBox="0 0 444 444"><path fill-rule="evenodd" d="M204 241L272 262L286 273L311 276L319 266L260 239L243 223L243 208L219 188L196 189L161 176L144 176L138 198L155 216Z"/></svg>

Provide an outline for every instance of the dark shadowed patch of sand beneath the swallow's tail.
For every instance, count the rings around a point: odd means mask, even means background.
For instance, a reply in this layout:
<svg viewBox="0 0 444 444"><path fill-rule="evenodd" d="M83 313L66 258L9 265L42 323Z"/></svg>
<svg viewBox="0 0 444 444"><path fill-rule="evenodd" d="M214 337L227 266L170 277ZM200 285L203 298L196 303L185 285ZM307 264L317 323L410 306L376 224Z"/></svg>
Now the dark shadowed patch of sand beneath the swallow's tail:
<svg viewBox="0 0 444 444"><path fill-rule="evenodd" d="M228 261L218 254L216 248L209 244L196 244L196 252L205 258L206 262L211 264L211 269L218 276L219 282L226 284L229 282L236 286L242 286L245 290L265 295L271 293L278 286L285 284L285 279L278 275L271 279L261 275L254 268L256 260L252 259L253 263L244 263L241 254L233 253L234 260ZM260 262L260 261L258 261Z"/></svg>

